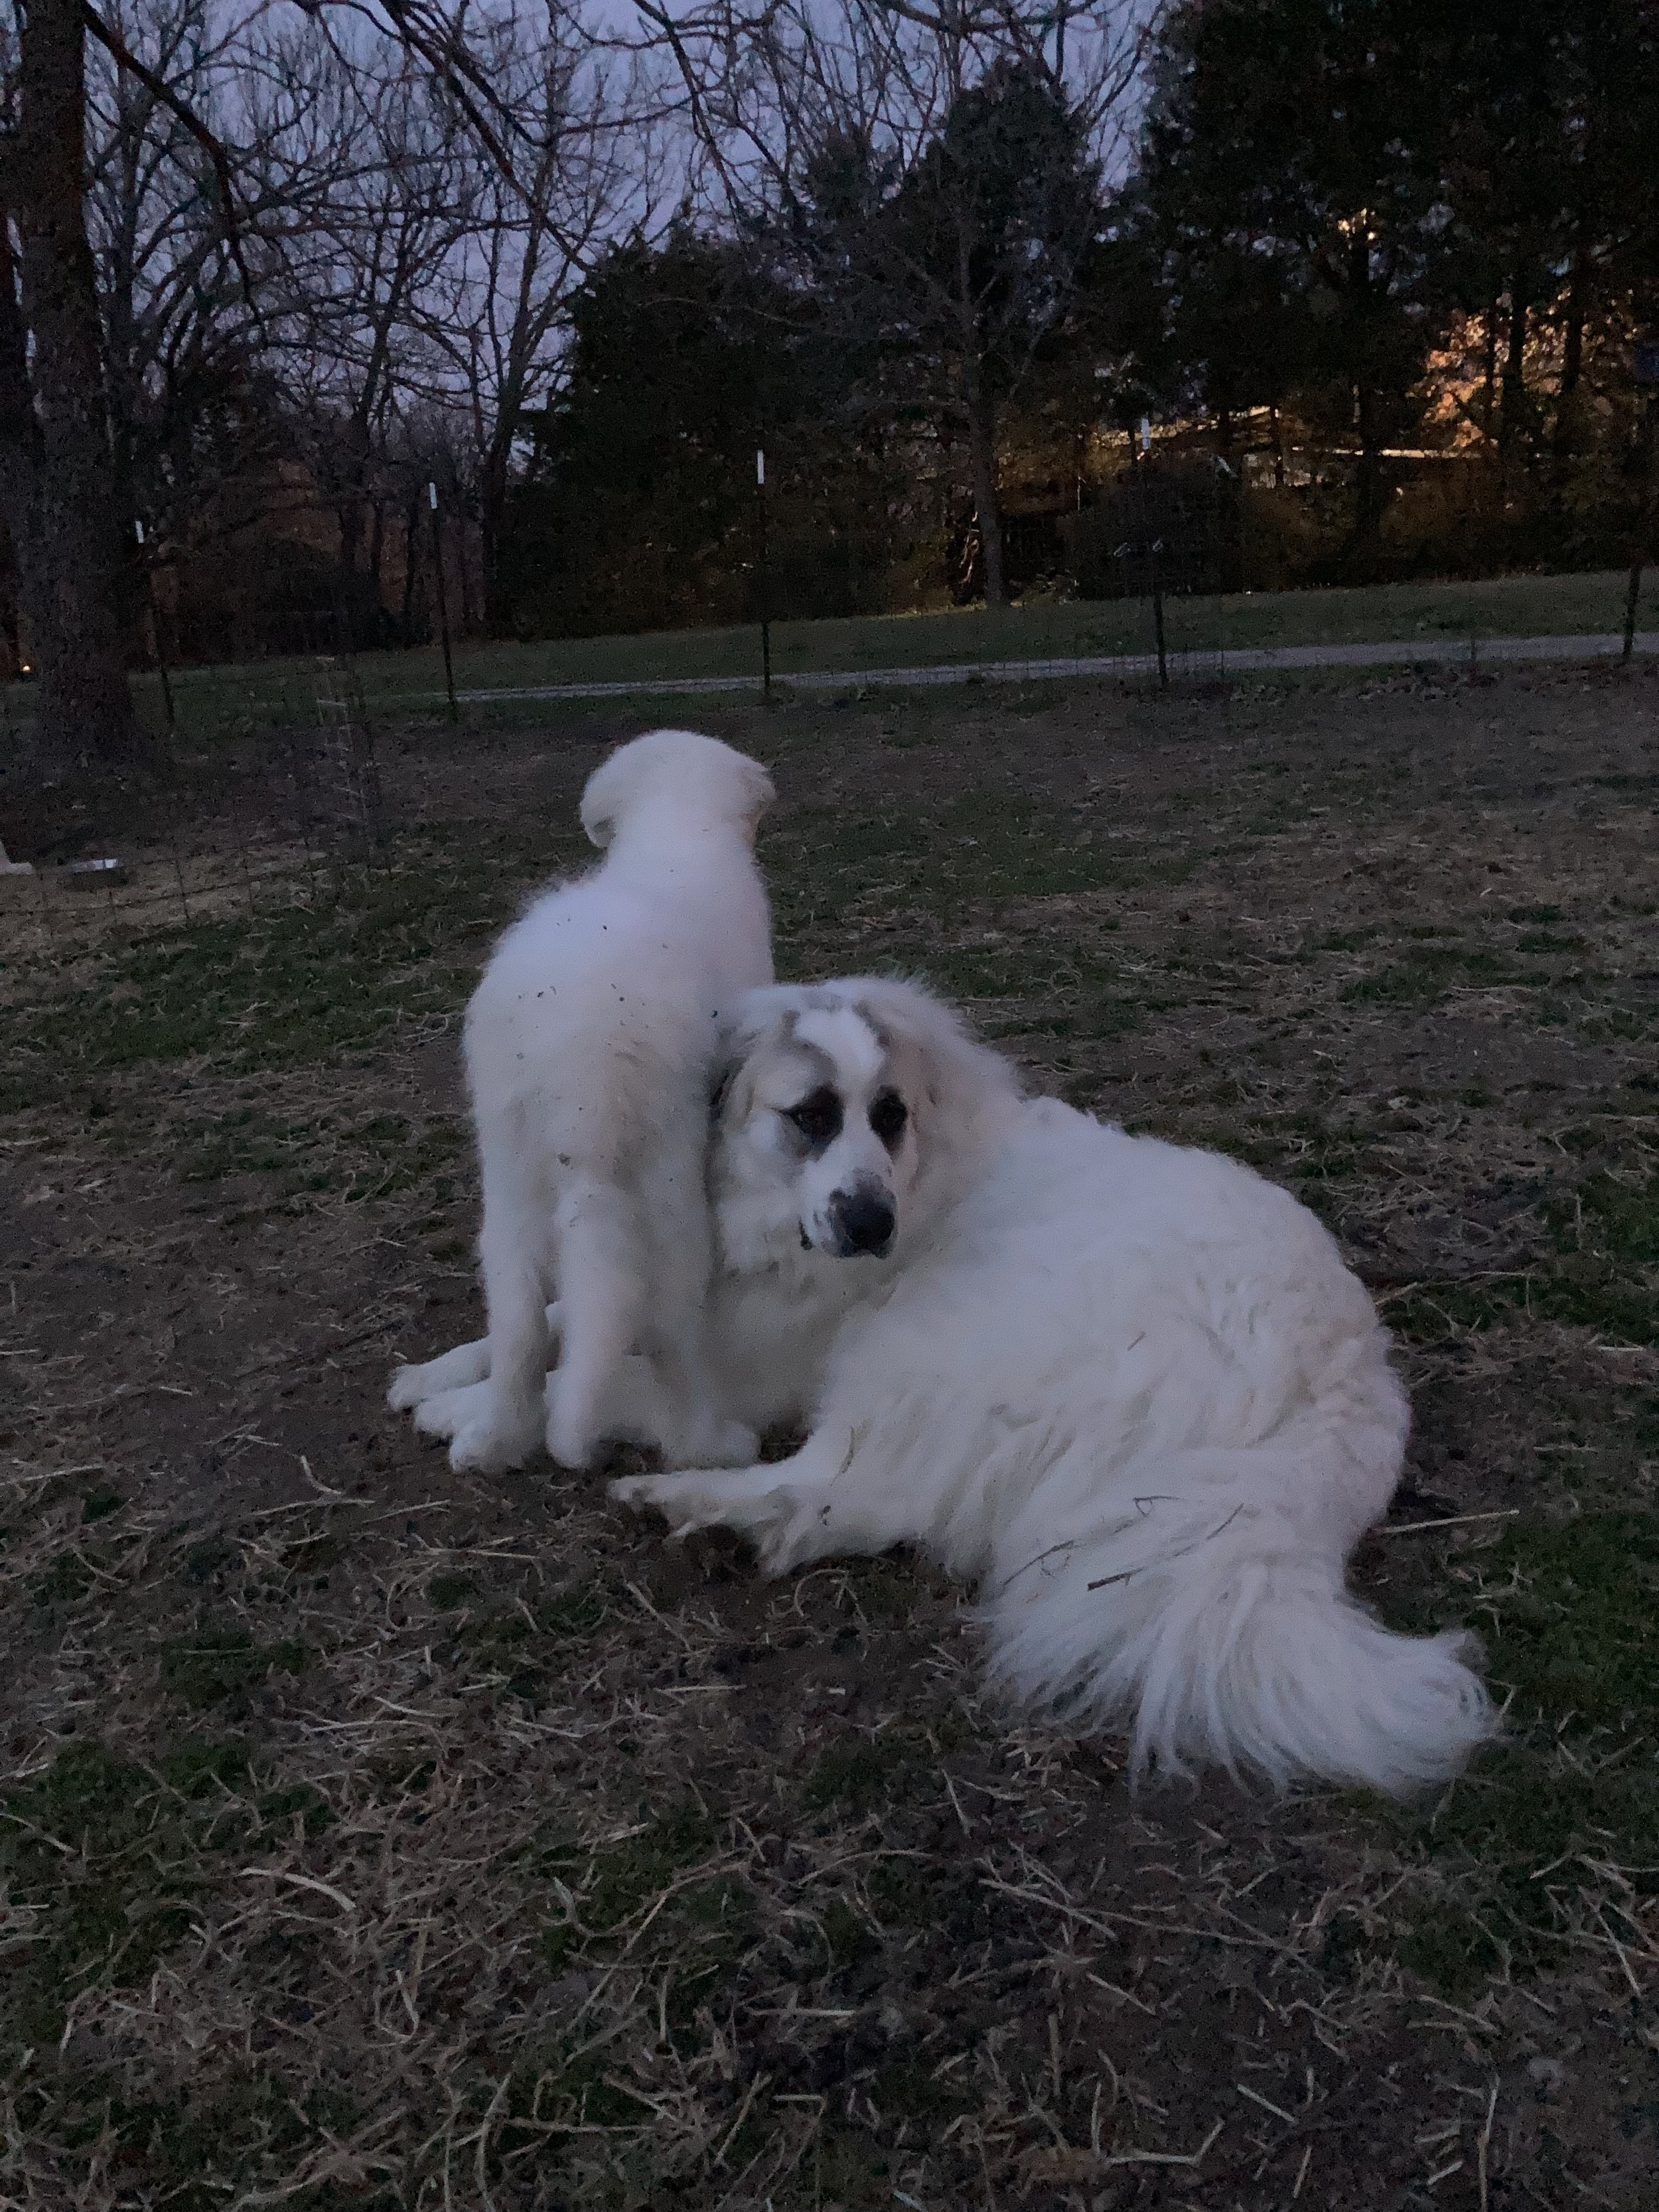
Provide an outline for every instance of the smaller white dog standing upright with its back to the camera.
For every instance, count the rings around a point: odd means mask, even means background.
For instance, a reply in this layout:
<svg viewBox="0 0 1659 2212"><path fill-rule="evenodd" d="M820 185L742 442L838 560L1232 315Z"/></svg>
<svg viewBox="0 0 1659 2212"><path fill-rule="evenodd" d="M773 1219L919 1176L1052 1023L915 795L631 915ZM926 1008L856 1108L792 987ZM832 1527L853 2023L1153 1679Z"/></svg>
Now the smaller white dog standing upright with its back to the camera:
<svg viewBox="0 0 1659 2212"><path fill-rule="evenodd" d="M706 1349L703 1164L721 1018L772 980L754 867L770 801L768 772L717 739L655 730L622 745L582 792L604 863L540 896L484 969L465 1031L484 1367L462 1347L405 1367L389 1394L453 1438L458 1469L520 1467L544 1440L586 1467L628 1354L646 1356L635 1416L668 1458L754 1455ZM562 1356L549 1378L555 1285Z"/></svg>

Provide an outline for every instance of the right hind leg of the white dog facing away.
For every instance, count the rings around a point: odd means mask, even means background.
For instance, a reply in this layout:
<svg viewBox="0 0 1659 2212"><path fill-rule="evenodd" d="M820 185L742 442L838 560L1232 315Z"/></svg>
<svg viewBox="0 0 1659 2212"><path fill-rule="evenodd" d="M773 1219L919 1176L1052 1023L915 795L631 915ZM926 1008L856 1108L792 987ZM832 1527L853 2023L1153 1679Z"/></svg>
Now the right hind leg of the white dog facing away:
<svg viewBox="0 0 1659 2212"><path fill-rule="evenodd" d="M557 1212L564 1352L546 1385L546 1449L560 1467L586 1467L639 1336L646 1252L633 1199L615 1183L584 1177L560 1194Z"/></svg>

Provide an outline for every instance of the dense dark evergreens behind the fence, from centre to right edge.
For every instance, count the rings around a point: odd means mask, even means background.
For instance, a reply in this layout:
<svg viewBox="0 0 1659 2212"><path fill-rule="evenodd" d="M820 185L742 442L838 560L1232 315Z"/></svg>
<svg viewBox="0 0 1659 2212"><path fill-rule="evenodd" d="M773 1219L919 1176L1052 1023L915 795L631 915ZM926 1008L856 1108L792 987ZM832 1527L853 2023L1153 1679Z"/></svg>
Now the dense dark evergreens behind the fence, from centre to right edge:
<svg viewBox="0 0 1659 2212"><path fill-rule="evenodd" d="M1000 69L909 168L841 135L772 221L619 246L513 495L522 633L1110 591L1141 418L1217 582L1604 566L1659 325L1644 0L1188 0L1104 192ZM1232 489L1237 487L1237 489Z"/></svg>

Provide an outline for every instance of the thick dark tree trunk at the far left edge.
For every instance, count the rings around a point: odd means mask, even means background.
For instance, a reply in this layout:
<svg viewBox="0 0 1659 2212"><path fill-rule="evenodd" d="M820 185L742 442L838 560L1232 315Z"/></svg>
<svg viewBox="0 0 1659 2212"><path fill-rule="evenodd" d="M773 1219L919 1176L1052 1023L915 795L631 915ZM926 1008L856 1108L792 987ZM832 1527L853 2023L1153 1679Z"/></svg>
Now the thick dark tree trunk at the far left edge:
<svg viewBox="0 0 1659 2212"><path fill-rule="evenodd" d="M40 692L35 761L133 761L153 748L133 714L122 633L122 522L86 241L86 80L80 0L31 0L20 53L11 206L22 232L22 321L33 336L38 449L31 615Z"/></svg>

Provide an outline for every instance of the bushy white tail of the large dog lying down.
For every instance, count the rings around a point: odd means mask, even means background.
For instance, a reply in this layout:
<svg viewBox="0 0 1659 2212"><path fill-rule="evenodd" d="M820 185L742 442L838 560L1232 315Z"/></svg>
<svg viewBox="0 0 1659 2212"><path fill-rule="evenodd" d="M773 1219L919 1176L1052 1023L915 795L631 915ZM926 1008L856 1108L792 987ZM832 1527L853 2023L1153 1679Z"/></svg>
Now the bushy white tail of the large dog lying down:
<svg viewBox="0 0 1659 2212"><path fill-rule="evenodd" d="M1133 1524L993 1595L993 1674L1066 1725L1130 1721L1137 1776L1217 1761L1394 1796L1449 1781L1498 1732L1473 1639L1383 1628L1343 1586L1343 1546L1206 1473L1206 1495L1137 1500Z"/></svg>

